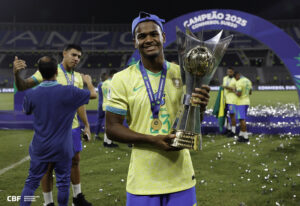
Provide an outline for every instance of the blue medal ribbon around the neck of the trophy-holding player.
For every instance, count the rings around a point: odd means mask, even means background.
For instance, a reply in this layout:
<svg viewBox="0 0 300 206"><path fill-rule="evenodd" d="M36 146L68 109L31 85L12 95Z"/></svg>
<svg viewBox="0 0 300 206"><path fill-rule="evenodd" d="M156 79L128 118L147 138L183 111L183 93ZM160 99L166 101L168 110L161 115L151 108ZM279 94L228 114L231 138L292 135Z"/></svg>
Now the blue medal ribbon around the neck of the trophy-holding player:
<svg viewBox="0 0 300 206"><path fill-rule="evenodd" d="M160 109L160 104L162 101L163 93L164 93L164 88L165 88L165 83L166 83L166 77L167 77L167 63L164 62L163 64L163 69L161 72L160 80L159 80L159 86L158 86L158 91L157 91L157 98L155 99L155 96L153 94L153 90L151 87L150 79L148 77L147 71L144 68L144 65L142 61L139 62L140 70L143 76L143 80L146 86L146 90L150 99L150 105L151 105L151 111L153 115L153 119L158 119L158 113Z"/></svg>

